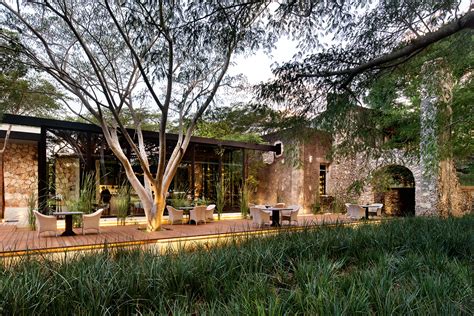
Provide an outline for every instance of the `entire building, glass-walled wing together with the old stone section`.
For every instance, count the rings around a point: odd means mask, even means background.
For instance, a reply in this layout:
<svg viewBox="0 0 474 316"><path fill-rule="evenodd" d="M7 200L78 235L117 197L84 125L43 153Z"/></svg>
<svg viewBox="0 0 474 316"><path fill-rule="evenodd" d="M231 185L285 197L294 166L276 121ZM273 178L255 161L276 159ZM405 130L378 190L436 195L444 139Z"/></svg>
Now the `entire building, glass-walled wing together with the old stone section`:
<svg viewBox="0 0 474 316"><path fill-rule="evenodd" d="M98 202L101 188L116 194L122 170L98 127L11 115L5 119L21 127L13 130L3 157L4 220L26 225L29 201L36 197L49 204L58 196L77 198L87 170L95 172ZM152 152L156 148L153 133L148 137ZM169 139L172 142L172 135ZM250 202L298 204L304 213L343 212L348 202L381 202L387 215L443 214L438 212L443 207L460 214L472 205L469 191L459 186L452 164L446 162L433 183L423 178L418 157L400 151L377 159L363 154L329 159L331 135L309 129L286 137L269 135L267 141L274 145L193 138L171 194L187 188L193 198L213 201L215 184L223 177L231 183L228 212L239 211L244 179ZM275 145L277 141L283 145ZM388 175L388 185L380 174Z"/></svg>

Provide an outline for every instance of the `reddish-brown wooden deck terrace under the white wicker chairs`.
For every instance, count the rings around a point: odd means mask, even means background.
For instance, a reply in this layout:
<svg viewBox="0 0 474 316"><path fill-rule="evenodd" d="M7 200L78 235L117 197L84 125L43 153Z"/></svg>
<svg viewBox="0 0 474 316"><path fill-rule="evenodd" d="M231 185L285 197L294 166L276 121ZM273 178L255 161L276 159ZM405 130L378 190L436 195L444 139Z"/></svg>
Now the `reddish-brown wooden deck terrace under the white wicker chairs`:
<svg viewBox="0 0 474 316"><path fill-rule="evenodd" d="M321 225L323 223L348 222L344 215L302 215L298 218L298 225ZM286 222L285 222L286 223ZM286 225L283 227L287 227ZM37 236L36 231L27 228L16 228L14 225L0 224L0 257L23 255L27 253L55 252L66 250L85 250L102 248L105 244L113 247L165 243L181 239L202 239L210 236L237 234L242 232L264 231L272 229L265 226L258 228L252 225L251 220L226 219L200 225L163 225L164 230L146 232L144 225L107 226L101 227L101 233L82 235L81 229L75 229L76 236L61 237L53 233L42 233ZM62 231L58 231L58 235Z"/></svg>

